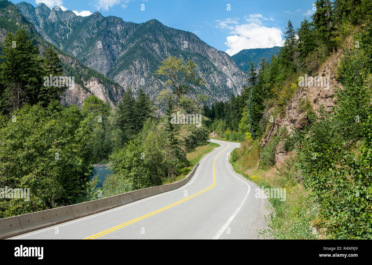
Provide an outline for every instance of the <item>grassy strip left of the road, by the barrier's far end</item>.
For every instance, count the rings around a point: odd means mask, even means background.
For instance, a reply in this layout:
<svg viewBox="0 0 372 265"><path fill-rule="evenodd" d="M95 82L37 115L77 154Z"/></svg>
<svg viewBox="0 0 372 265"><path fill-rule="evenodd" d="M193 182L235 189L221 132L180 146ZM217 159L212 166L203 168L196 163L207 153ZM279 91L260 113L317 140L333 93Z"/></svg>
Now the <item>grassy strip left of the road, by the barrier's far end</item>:
<svg viewBox="0 0 372 265"><path fill-rule="evenodd" d="M187 160L189 160L189 166L188 167L184 167L181 170L180 175L177 176L176 178L172 179L171 181L169 179L166 179L163 182L163 185L174 183L174 182L177 182L177 181L180 181L180 180L184 179L185 176L191 172L191 170L194 168L194 166L196 165L196 163L198 163L202 159L203 156L205 156L206 154L210 153L216 147L219 147L219 146L220 145L219 144L216 144L216 143L208 143L205 146L198 146L198 147L195 148L194 151L192 151L190 153L187 153L186 154L186 158L187 158Z"/></svg>

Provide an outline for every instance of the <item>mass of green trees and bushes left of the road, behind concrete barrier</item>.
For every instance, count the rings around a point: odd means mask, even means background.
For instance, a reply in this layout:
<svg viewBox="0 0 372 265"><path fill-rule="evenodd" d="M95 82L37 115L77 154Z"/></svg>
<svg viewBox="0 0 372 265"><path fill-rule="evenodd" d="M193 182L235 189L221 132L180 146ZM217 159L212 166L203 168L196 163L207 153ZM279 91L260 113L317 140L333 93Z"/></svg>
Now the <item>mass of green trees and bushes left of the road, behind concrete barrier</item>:
<svg viewBox="0 0 372 265"><path fill-rule="evenodd" d="M20 28L1 48L0 187L29 188L30 199L2 198L0 218L173 182L215 146L207 144L208 118L201 115L207 98L194 89L204 81L191 60L169 57L154 73L165 83L158 101L166 106L155 116L154 100L141 89L137 97L126 89L115 107L94 95L81 109L64 107L58 99L68 87L44 83L64 75L51 45L39 55ZM102 188L92 178L94 163L112 170Z"/></svg>

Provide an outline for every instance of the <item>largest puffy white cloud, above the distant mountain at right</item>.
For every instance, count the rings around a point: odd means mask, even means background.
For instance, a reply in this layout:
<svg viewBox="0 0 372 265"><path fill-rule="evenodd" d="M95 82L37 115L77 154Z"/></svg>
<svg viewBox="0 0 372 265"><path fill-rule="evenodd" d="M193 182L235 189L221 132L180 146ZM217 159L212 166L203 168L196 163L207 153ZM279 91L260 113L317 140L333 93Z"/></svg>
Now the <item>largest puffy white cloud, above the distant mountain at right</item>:
<svg viewBox="0 0 372 265"><path fill-rule="evenodd" d="M244 49L252 48L271 48L274 46L283 46L283 32L278 28L270 28L262 24L265 19L261 14L245 16L248 23L239 24L236 19L222 21L218 20L216 28L230 29L230 36L226 37L225 44L229 47L226 51L229 55L234 55ZM270 20L274 20L270 18ZM230 23L227 23L230 22ZM233 23L234 22L234 23ZM233 29L231 29L233 28Z"/></svg>

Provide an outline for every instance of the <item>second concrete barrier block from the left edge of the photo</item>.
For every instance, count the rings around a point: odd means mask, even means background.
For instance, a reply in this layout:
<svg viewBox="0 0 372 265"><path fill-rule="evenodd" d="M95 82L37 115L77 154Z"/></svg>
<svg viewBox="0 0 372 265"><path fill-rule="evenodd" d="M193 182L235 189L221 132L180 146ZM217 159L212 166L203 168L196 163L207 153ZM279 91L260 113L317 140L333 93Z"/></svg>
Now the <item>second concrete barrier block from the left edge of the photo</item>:
<svg viewBox="0 0 372 265"><path fill-rule="evenodd" d="M19 223L25 233L53 225L49 210L19 215Z"/></svg>

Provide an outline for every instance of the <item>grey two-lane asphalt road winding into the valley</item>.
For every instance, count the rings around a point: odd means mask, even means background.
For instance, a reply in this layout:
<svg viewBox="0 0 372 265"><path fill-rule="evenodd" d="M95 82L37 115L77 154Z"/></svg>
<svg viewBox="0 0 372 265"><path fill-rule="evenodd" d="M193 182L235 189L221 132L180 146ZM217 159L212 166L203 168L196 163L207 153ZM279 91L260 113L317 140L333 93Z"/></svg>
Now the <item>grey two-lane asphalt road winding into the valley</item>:
<svg viewBox="0 0 372 265"><path fill-rule="evenodd" d="M257 239L267 206L227 160L239 144L211 142L220 147L179 189L10 239Z"/></svg>

